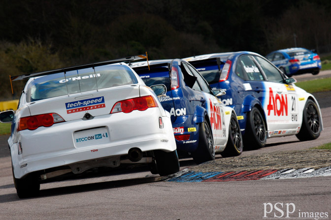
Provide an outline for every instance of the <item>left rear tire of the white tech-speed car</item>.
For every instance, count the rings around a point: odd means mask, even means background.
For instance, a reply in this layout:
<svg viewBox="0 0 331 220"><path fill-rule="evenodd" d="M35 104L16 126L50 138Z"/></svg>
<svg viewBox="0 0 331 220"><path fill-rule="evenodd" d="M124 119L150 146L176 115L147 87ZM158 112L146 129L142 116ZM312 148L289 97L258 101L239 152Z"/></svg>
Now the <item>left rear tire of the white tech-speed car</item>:
<svg viewBox="0 0 331 220"><path fill-rule="evenodd" d="M19 198L29 198L39 195L40 183L37 180L37 176L28 174L25 178L16 179L14 176L13 166L11 166L11 171L13 173L14 185Z"/></svg>

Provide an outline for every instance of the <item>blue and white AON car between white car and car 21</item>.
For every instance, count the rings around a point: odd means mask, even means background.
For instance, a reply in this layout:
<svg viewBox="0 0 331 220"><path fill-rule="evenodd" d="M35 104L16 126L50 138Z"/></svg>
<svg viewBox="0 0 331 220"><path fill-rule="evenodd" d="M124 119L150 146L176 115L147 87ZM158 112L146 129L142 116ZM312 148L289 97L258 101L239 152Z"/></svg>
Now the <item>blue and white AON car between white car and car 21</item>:
<svg viewBox="0 0 331 220"><path fill-rule="evenodd" d="M159 99L170 112L180 156L191 155L200 164L214 160L215 152L223 157L241 154L236 114L215 96L225 94L224 90L212 91L199 72L181 59L149 61L149 66L136 62L131 67L146 85L166 90Z"/></svg>

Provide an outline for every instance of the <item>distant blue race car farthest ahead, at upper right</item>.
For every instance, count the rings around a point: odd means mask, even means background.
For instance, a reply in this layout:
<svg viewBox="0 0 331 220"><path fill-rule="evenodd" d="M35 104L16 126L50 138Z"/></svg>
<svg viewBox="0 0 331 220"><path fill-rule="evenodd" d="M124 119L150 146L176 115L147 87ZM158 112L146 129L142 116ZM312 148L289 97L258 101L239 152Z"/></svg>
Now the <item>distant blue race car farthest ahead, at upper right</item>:
<svg viewBox="0 0 331 220"><path fill-rule="evenodd" d="M278 50L265 57L287 76L303 73L317 75L322 68L320 56L304 48Z"/></svg>

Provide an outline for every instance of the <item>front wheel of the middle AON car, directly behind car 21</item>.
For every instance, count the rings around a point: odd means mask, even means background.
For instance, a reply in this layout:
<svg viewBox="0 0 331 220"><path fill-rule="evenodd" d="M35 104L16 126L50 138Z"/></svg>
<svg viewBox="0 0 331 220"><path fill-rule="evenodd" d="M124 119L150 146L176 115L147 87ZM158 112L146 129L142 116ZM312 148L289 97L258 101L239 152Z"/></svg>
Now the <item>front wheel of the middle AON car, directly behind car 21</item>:
<svg viewBox="0 0 331 220"><path fill-rule="evenodd" d="M239 123L235 114L232 112L229 125L229 137L227 147L221 153L221 155L222 157L239 156L242 153L242 149L243 143Z"/></svg>

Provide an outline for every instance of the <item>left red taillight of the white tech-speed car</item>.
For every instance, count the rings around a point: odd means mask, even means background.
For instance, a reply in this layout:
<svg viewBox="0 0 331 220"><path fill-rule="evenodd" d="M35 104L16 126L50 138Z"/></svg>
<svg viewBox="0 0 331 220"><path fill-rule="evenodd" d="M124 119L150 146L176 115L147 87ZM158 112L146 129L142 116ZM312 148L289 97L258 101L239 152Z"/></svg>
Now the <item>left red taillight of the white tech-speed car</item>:
<svg viewBox="0 0 331 220"><path fill-rule="evenodd" d="M26 129L35 130L39 127L50 127L53 124L64 122L65 120L57 113L38 114L20 118L17 131Z"/></svg>

